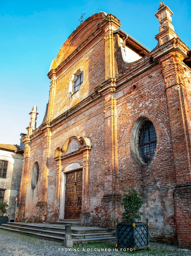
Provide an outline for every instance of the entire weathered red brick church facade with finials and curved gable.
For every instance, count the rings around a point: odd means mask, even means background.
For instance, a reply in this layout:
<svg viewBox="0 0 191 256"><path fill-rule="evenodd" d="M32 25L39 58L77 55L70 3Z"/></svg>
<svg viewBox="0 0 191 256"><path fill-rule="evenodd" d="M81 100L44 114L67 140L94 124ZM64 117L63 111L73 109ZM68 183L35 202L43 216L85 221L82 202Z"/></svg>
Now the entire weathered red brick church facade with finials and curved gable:
<svg viewBox="0 0 191 256"><path fill-rule="evenodd" d="M17 221L115 226L122 189L142 194L153 239L191 247L190 49L160 3L149 51L112 14L92 15L52 61L25 144Z"/></svg>

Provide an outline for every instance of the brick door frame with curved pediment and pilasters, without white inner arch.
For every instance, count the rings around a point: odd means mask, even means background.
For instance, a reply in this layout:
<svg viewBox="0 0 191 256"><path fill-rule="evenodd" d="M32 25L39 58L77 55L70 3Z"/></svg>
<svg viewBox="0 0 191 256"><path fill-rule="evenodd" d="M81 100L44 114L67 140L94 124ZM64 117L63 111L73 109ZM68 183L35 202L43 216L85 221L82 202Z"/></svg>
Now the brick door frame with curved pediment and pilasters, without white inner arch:
<svg viewBox="0 0 191 256"><path fill-rule="evenodd" d="M77 142L77 143L76 143ZM72 143L75 147L72 147ZM54 218L57 216L59 219L60 214L60 198L62 186L62 173L67 170L67 166L71 163L78 162L83 169L82 178L82 207L81 215L87 215L89 213L89 151L92 148L90 139L77 136L70 137L64 147L58 147L55 150L54 159L57 162L57 173L56 173L56 190L55 190L55 207L54 207ZM72 160L73 159L73 160ZM78 160L77 160L78 159ZM76 161L77 160L77 161ZM69 167L68 167L69 168ZM68 170L69 171L69 170ZM67 172L67 171L66 171Z"/></svg>

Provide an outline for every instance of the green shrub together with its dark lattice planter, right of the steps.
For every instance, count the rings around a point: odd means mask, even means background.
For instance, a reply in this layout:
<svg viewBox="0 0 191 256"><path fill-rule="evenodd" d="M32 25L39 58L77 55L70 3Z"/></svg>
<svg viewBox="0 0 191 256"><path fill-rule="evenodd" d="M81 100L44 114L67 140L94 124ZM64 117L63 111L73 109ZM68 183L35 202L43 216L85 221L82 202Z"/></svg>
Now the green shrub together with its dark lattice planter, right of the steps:
<svg viewBox="0 0 191 256"><path fill-rule="evenodd" d="M136 223L141 220L140 208L143 205L141 195L130 187L123 189L122 205L124 212L122 219L125 222L116 222L116 246L119 248L132 248L133 251L147 248L149 250L149 223Z"/></svg>

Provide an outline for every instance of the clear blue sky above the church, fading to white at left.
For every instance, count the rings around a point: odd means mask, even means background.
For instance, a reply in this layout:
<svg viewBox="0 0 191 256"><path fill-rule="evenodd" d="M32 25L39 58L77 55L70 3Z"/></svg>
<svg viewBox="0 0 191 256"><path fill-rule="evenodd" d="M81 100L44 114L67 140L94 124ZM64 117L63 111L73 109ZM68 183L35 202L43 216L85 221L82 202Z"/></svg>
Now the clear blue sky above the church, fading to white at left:
<svg viewBox="0 0 191 256"><path fill-rule="evenodd" d="M0 143L20 144L32 106L37 127L48 102L50 64L67 37L84 19L104 11L121 21L121 28L152 50L159 22L160 1L3 1L0 0ZM191 1L164 1L173 11L175 32L190 48Z"/></svg>

